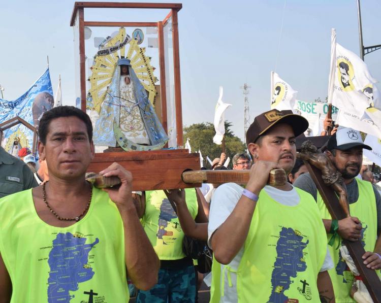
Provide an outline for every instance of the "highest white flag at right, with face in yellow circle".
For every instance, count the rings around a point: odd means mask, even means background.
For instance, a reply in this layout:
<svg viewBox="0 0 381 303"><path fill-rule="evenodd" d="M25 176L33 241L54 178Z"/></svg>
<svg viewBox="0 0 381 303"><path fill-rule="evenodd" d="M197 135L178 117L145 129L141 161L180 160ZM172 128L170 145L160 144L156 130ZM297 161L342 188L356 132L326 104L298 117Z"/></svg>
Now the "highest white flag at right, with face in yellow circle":
<svg viewBox="0 0 381 303"><path fill-rule="evenodd" d="M362 117L373 102L369 89L377 80L371 76L361 58L336 42L334 28L331 37L328 103L332 102L340 110Z"/></svg>

